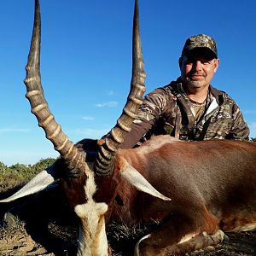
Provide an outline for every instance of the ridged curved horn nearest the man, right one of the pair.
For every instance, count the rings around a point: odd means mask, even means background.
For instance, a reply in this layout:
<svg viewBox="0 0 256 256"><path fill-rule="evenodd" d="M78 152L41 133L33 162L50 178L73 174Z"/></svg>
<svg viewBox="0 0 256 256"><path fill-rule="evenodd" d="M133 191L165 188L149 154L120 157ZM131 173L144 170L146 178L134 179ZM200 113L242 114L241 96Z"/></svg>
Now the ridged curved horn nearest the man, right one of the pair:
<svg viewBox="0 0 256 256"><path fill-rule="evenodd" d="M113 168L113 156L118 150L120 143L124 142L125 134L131 131L131 125L137 117L137 109L143 103L143 93L145 91L142 45L140 39L138 1L136 0L133 16L133 42L132 42L132 78L131 90L125 103L123 113L117 120L110 135L99 150L95 162L95 172L99 176L108 176Z"/></svg>

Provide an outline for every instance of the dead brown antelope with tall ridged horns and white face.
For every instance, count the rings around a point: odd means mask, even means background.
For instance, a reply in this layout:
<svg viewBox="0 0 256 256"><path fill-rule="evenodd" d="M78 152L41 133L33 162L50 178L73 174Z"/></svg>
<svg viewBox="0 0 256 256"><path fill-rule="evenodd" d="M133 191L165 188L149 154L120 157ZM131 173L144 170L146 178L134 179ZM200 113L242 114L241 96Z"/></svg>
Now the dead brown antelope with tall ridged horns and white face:
<svg viewBox="0 0 256 256"><path fill-rule="evenodd" d="M83 140L78 147L61 131L44 99L39 72L40 12L35 0L26 97L61 158L3 201L37 192L61 178L80 219L78 255L111 254L105 231L111 219L129 224L160 222L137 242L135 255L188 253L223 241L224 231L256 228L256 143L187 143L159 136L139 148L119 149L145 90L137 5L136 1L131 90L123 113L103 143ZM97 155L91 157L86 151Z"/></svg>

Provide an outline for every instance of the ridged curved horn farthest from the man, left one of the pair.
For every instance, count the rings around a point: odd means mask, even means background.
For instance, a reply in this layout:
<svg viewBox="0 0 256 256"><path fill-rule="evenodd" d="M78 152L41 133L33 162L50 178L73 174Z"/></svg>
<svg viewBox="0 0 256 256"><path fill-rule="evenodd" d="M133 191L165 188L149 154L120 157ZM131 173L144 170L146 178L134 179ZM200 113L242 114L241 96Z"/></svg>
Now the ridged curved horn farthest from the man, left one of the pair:
<svg viewBox="0 0 256 256"><path fill-rule="evenodd" d="M32 41L26 64L26 98L29 100L32 113L38 119L38 125L44 129L45 136L54 144L61 157L66 160L69 169L83 169L84 154L74 146L67 135L49 111L44 98L40 75L40 44L41 44L41 15L39 1L35 0L34 26Z"/></svg>

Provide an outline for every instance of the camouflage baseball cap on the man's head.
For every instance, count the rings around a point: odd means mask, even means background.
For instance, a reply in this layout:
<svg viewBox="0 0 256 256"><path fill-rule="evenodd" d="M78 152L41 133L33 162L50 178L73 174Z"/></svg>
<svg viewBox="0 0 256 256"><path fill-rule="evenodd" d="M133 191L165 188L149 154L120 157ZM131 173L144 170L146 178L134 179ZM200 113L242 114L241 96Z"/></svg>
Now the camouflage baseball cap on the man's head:
<svg viewBox="0 0 256 256"><path fill-rule="evenodd" d="M201 47L210 49L215 57L218 56L215 40L204 34L199 34L199 35L188 38L186 40L186 43L183 46L182 55L187 55L187 53L191 49L201 48Z"/></svg>

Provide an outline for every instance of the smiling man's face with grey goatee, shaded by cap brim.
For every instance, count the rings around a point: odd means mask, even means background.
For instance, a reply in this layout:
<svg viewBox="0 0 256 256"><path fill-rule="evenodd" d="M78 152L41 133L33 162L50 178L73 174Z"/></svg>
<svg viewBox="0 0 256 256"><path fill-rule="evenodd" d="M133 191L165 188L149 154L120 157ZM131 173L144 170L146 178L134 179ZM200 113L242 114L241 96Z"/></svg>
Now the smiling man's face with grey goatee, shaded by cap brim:
<svg viewBox="0 0 256 256"><path fill-rule="evenodd" d="M207 87L218 69L219 60L204 50L191 50L179 60L183 83L190 89Z"/></svg>

